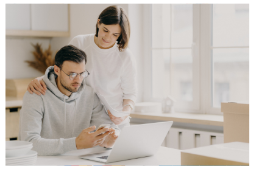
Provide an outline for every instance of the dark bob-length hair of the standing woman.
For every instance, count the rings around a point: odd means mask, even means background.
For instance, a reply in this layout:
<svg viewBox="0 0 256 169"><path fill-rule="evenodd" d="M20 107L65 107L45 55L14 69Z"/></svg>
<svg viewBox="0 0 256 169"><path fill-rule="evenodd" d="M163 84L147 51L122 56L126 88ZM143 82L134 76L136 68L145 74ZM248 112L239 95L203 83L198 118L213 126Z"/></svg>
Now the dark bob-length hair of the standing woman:
<svg viewBox="0 0 256 169"><path fill-rule="evenodd" d="M104 9L98 19L100 19L99 24L119 24L121 27L121 35L116 41L118 41L119 51L126 50L130 39L130 22L126 11L122 7L113 5ZM96 24L96 37L98 37L98 32L99 28L98 24Z"/></svg>

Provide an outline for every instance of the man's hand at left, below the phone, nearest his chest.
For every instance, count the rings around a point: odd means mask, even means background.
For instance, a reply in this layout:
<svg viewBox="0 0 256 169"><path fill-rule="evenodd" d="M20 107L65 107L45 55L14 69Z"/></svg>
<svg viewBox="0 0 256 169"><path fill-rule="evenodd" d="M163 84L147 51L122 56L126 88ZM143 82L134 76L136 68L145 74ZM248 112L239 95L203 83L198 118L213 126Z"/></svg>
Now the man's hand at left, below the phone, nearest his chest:
<svg viewBox="0 0 256 169"><path fill-rule="evenodd" d="M108 131L111 131L111 129L109 128L102 128L102 129L99 129L98 131L95 131L94 133L89 133L94 129L95 129L95 126L91 126L89 128L83 129L83 131L79 134L79 136L76 137L77 150L101 145L104 142L105 138L111 133L111 132L108 132ZM104 132L106 133L98 136L99 134Z"/></svg>

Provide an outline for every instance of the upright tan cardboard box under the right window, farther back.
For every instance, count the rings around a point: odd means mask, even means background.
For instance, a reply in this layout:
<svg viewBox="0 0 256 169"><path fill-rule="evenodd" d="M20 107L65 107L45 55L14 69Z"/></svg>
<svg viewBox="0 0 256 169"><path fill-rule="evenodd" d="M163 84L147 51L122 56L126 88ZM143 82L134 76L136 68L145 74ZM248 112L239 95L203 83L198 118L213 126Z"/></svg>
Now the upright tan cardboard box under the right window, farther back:
<svg viewBox="0 0 256 169"><path fill-rule="evenodd" d="M249 101L221 103L224 143L249 143Z"/></svg>

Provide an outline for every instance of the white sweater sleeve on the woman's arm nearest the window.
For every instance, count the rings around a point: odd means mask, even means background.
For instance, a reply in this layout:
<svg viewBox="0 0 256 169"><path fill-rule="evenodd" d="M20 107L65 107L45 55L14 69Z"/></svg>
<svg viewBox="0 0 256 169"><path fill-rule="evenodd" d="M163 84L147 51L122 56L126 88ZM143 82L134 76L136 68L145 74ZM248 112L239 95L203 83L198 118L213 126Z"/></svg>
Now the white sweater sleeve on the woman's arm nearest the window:
<svg viewBox="0 0 256 169"><path fill-rule="evenodd" d="M137 98L137 64L129 49L126 49L123 58L123 71L121 74L121 89L123 99L130 99L134 103Z"/></svg>

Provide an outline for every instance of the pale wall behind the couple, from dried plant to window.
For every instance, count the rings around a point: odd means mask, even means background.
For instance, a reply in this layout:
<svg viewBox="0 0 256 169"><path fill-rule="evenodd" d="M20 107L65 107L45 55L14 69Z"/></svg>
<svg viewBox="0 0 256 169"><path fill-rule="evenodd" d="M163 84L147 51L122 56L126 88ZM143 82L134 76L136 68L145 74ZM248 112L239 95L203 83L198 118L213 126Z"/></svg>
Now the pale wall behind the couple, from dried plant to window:
<svg viewBox="0 0 256 169"><path fill-rule="evenodd" d="M33 78L41 74L29 67L25 60L34 60L30 43L41 43L43 50L51 44L52 57L67 45L74 36L95 33L99 14L110 5L119 5L126 10L130 19L131 35L129 49L137 60L138 97L142 102L143 94L143 5L142 4L70 4L70 37L68 38L5 38L5 78Z"/></svg>

